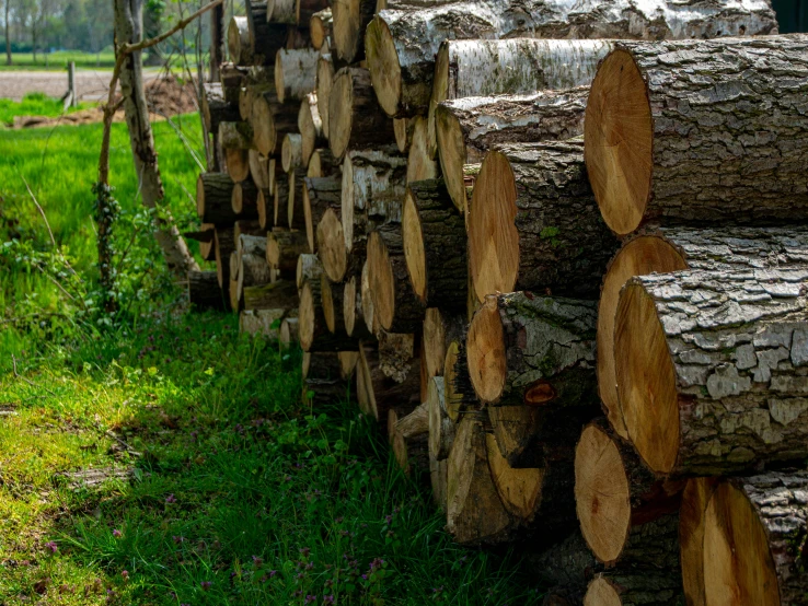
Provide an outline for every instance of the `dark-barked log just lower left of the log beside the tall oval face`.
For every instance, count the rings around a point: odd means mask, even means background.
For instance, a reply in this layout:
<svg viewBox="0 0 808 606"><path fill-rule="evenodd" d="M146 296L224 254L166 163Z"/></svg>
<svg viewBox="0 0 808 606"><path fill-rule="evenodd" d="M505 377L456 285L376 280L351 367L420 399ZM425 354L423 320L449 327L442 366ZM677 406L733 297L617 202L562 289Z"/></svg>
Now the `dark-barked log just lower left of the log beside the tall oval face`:
<svg viewBox="0 0 808 606"><path fill-rule="evenodd" d="M368 279L379 325L391 333L419 330L426 305L409 283L400 224L381 225L369 235Z"/></svg>

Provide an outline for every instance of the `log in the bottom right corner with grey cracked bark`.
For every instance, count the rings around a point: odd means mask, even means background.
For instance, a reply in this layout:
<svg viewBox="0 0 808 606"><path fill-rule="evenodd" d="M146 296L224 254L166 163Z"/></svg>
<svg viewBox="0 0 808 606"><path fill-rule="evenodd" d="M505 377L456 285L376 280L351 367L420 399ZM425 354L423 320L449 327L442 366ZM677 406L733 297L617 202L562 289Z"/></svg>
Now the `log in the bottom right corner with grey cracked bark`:
<svg viewBox="0 0 808 606"><path fill-rule="evenodd" d="M704 528L707 604L806 604L806 488L803 470L722 481Z"/></svg>

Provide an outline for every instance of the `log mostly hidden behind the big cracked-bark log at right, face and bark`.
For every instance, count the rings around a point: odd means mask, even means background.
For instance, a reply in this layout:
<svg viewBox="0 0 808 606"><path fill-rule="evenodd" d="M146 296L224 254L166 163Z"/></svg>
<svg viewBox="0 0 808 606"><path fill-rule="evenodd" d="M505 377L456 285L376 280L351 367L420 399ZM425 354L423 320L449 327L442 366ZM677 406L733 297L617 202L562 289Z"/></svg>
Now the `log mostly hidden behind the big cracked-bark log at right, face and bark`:
<svg viewBox="0 0 808 606"><path fill-rule="evenodd" d="M625 243L609 265L598 308L598 388L614 430L628 438L614 374L614 315L626 280L688 267L734 272L807 260L808 231L800 228L651 228Z"/></svg>

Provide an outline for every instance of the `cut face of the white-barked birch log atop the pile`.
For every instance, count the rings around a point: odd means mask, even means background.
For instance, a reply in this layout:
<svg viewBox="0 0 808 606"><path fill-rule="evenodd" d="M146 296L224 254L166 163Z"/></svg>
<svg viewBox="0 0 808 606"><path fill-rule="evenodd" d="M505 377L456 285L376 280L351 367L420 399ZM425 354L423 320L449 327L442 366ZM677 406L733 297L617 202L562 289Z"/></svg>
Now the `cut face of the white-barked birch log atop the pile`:
<svg viewBox="0 0 808 606"><path fill-rule="evenodd" d="M401 100L401 65L390 27L379 16L365 31L365 55L379 105L388 116L395 117Z"/></svg>

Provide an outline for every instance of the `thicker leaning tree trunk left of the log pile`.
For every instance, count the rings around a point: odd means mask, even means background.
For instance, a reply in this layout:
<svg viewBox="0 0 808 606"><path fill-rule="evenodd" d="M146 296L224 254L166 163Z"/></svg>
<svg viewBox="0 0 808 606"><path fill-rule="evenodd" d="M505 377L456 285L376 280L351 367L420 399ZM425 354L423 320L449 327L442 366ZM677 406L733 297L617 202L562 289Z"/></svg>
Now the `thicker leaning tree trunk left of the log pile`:
<svg viewBox="0 0 808 606"><path fill-rule="evenodd" d="M115 0L115 42L137 44L142 37L142 0ZM120 92L124 97L124 112L129 128L135 172L139 184L138 191L148 209L161 207L160 218L154 220L154 237L160 245L169 270L177 278L185 279L188 271L198 270L185 241L164 208L163 183L160 178L158 154L149 121L149 107L143 91L142 61L140 53L127 55L120 69ZM210 223L210 221L206 221Z"/></svg>

